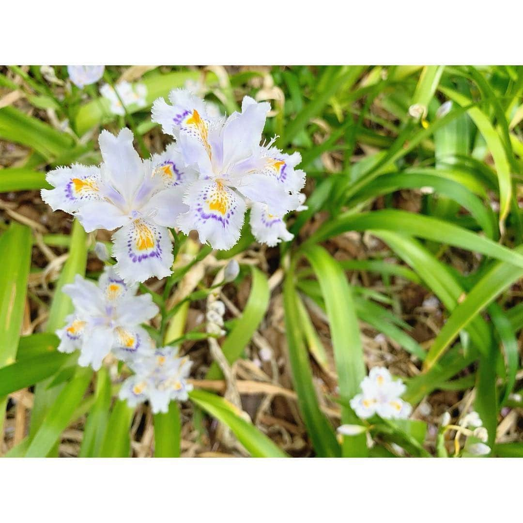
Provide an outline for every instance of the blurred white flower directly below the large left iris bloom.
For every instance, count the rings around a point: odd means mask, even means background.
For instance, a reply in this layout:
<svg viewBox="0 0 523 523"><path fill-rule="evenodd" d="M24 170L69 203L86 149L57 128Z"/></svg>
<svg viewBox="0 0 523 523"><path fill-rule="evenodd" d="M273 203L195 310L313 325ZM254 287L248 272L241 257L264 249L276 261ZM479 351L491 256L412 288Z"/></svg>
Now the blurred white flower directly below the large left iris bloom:
<svg viewBox="0 0 523 523"><path fill-rule="evenodd" d="M66 326L56 335L58 350L72 353L80 349L79 365L101 367L103 359L113 351L120 359L152 350L152 340L141 323L158 313L150 294L135 295L137 286L128 286L112 267L106 267L98 285L76 275L74 283L62 291L71 297L74 313L66 318Z"/></svg>

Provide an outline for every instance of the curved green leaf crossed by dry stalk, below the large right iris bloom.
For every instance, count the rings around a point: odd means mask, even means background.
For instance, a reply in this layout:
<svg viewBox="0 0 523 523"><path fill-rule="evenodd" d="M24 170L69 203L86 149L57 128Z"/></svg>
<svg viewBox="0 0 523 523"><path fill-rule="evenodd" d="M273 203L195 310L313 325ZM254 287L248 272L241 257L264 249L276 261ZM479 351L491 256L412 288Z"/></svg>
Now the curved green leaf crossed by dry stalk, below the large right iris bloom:
<svg viewBox="0 0 523 523"><path fill-rule="evenodd" d="M250 267L253 278L251 294L245 305L240 321L236 323L222 345L222 351L229 363L233 363L242 355L245 346L252 339L269 305L269 283L267 277L256 267ZM208 380L218 380L222 372L213 363L207 372Z"/></svg>

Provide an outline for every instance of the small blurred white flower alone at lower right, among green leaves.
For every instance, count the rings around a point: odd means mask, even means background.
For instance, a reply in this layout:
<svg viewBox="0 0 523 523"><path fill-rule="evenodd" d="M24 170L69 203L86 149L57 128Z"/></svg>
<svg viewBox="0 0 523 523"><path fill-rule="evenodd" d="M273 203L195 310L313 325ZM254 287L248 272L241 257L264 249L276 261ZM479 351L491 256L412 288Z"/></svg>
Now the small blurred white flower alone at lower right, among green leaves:
<svg viewBox="0 0 523 523"><path fill-rule="evenodd" d="M369 376L360 384L361 394L350 400L350 406L361 419L374 414L384 419L406 419L412 412L409 403L400 396L405 392L401 380L392 380L390 372L384 367L373 367Z"/></svg>

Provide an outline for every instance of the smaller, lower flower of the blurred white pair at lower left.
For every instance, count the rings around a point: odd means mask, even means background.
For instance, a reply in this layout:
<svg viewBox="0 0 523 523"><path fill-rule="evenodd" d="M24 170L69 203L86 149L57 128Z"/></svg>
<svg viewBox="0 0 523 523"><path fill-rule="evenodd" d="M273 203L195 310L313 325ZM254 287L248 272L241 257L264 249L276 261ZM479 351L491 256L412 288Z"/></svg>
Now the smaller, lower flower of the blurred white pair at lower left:
<svg viewBox="0 0 523 523"><path fill-rule="evenodd" d="M187 383L192 363L187 357L179 358L173 347L158 348L128 365L135 374L123 382L119 397L131 407L149 400L153 413L166 413L171 400L187 400L192 390Z"/></svg>

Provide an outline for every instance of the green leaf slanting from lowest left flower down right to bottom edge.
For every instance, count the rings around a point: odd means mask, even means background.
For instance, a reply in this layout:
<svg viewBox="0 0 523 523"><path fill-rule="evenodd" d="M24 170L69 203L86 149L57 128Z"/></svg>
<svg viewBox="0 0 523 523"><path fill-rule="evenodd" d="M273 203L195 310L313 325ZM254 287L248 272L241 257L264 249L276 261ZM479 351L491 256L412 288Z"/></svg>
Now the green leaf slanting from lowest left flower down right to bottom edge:
<svg viewBox="0 0 523 523"><path fill-rule="evenodd" d="M189 392L189 397L204 411L227 425L253 458L287 458L265 434L235 412L235 407L222 397L202 390Z"/></svg>

